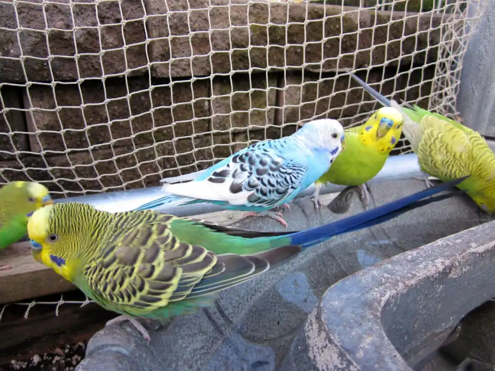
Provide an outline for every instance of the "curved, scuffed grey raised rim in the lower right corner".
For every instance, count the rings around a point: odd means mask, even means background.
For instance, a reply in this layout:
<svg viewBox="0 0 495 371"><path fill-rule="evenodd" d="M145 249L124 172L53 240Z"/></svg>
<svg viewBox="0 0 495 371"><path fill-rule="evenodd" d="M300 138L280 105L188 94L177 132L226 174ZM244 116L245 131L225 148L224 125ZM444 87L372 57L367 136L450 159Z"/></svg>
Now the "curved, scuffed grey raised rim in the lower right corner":
<svg viewBox="0 0 495 371"><path fill-rule="evenodd" d="M462 317L495 296L494 241L495 222L486 223L335 284L283 369L307 370L312 361L317 370L412 370Z"/></svg>

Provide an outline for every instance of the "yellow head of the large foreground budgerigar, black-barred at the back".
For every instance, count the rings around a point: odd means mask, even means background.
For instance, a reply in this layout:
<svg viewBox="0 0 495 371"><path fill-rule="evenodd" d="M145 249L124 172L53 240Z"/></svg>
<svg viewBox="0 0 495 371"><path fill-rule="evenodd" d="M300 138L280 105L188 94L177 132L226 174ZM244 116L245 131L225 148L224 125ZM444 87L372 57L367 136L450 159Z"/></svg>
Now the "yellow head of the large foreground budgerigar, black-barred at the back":
<svg viewBox="0 0 495 371"><path fill-rule="evenodd" d="M28 221L33 257L72 281L81 264L95 253L99 232L104 231L95 228L100 225L95 212L91 205L78 202L57 203L35 211Z"/></svg>

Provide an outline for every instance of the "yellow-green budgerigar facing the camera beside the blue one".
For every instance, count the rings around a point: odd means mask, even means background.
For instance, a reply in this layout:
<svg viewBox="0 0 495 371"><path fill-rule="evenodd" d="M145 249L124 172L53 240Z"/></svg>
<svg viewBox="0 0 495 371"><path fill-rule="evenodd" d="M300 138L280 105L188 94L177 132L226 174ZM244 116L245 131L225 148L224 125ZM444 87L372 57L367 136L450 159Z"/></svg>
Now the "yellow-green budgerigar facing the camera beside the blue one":
<svg viewBox="0 0 495 371"><path fill-rule="evenodd" d="M382 107L363 125L347 129L346 148L334 163L315 183L313 195L315 206L321 206L318 199L320 188L325 183L355 185L361 191L364 207L368 205L366 182L382 170L390 151L396 146L402 134L402 115L395 108Z"/></svg>

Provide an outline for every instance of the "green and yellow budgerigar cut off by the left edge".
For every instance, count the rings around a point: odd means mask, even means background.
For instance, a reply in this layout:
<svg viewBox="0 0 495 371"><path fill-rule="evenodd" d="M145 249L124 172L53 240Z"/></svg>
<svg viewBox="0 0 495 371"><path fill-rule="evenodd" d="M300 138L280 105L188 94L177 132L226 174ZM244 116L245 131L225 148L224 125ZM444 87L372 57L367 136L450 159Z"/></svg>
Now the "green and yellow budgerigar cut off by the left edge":
<svg viewBox="0 0 495 371"><path fill-rule="evenodd" d="M46 186L11 182L0 188L0 250L27 235L28 214L51 204ZM0 270L11 268L0 264Z"/></svg>

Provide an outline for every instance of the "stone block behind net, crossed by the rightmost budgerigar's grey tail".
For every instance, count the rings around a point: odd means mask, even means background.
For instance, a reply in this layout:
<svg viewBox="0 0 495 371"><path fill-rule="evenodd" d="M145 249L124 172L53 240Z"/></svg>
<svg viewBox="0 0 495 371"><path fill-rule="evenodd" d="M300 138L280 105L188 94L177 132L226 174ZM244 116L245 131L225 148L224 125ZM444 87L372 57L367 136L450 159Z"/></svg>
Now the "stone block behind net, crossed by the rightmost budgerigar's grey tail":
<svg viewBox="0 0 495 371"><path fill-rule="evenodd" d="M428 107L435 66L412 69L396 74L396 68L357 72L357 76L383 95L394 94L394 99L414 100ZM385 77L385 80L383 78ZM350 80L350 82L349 82ZM381 84L381 89L377 83ZM354 83L349 75L341 77L319 74L287 74L279 83L280 105L283 114L277 115L276 124L298 123L322 117L335 118L344 126L363 122L371 111L381 107L376 100Z"/></svg>

